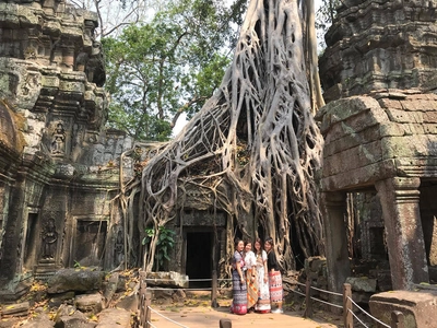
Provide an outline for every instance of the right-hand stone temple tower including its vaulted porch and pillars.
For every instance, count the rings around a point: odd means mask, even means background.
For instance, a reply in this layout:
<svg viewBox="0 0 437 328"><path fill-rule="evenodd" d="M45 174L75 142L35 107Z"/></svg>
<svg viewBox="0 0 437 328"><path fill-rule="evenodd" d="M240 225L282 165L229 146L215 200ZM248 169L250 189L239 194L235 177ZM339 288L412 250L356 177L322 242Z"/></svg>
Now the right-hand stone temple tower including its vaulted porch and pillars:
<svg viewBox="0 0 437 328"><path fill-rule="evenodd" d="M436 262L437 1L351 0L326 39L321 176L330 288L351 276L347 195L378 203L366 256L388 253L394 290L428 282ZM383 250L386 249L386 250ZM382 251L381 251L382 250Z"/></svg>

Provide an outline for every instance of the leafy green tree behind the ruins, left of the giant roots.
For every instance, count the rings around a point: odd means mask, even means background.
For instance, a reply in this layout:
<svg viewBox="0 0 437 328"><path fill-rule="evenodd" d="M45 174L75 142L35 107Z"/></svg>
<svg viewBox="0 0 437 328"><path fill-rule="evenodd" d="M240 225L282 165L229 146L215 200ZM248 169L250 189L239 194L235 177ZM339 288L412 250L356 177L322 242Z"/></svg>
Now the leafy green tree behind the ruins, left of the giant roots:
<svg viewBox="0 0 437 328"><path fill-rule="evenodd" d="M229 35L236 35L231 25L246 5L236 2L227 9L223 1L173 1L150 23L104 38L109 127L138 140L165 141L178 110L198 112L229 63Z"/></svg>

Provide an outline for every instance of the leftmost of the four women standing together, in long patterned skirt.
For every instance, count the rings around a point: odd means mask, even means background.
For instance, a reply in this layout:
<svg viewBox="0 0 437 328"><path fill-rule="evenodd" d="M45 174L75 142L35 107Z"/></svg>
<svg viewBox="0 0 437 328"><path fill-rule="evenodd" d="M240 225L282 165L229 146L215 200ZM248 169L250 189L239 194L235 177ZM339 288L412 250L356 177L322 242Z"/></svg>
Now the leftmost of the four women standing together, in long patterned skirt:
<svg viewBox="0 0 437 328"><path fill-rule="evenodd" d="M244 315L247 313L247 288L245 279L245 257L243 250L245 243L240 239L235 242L235 253L232 261L233 267L233 303L231 313Z"/></svg>

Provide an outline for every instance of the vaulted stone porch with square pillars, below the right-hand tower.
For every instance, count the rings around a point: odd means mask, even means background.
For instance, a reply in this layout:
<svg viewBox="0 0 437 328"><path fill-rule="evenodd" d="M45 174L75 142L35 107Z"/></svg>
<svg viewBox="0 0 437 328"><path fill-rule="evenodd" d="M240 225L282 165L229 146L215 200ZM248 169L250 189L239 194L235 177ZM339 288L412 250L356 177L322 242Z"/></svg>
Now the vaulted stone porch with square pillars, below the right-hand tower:
<svg viewBox="0 0 437 328"><path fill-rule="evenodd" d="M381 202L393 290L429 281L418 188L437 178L436 102L434 94L375 93L331 102L317 114L331 290L340 292L351 274L346 192L368 188Z"/></svg>

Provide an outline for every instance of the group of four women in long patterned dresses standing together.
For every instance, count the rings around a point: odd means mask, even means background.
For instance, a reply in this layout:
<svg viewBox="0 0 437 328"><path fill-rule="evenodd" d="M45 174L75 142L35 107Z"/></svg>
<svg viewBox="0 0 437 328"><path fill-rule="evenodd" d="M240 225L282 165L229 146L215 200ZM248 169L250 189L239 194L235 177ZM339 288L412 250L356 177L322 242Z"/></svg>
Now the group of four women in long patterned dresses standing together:
<svg viewBox="0 0 437 328"><path fill-rule="evenodd" d="M250 241L235 242L233 257L233 303L231 312L283 313L282 277L273 249L273 239L262 244L257 238L251 250ZM275 307L274 309L272 309Z"/></svg>

